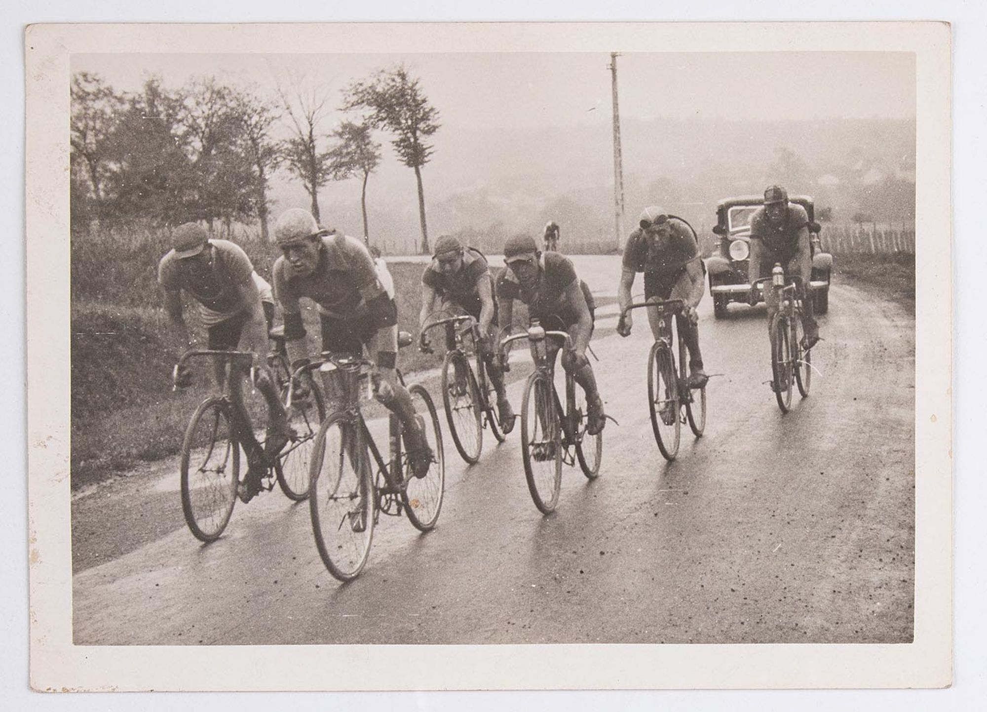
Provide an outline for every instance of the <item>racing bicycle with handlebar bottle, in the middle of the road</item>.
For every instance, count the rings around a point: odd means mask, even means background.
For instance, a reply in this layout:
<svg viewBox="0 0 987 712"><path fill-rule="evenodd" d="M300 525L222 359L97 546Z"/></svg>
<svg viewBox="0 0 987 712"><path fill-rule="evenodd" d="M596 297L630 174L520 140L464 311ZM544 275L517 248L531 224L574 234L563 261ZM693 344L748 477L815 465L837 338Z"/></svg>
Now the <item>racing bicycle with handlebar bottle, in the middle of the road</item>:
<svg viewBox="0 0 987 712"><path fill-rule="evenodd" d="M586 397L582 388L566 371L566 408L562 407L555 386L555 359L548 357L547 340L555 339L571 348L569 333L546 331L538 320L532 320L527 331L508 336L500 342L527 339L535 370L524 385L521 401L521 455L524 477L535 507L550 514L559 502L562 486L562 465L574 466L575 460L587 479L599 475L603 454L603 433L586 433Z"/></svg>

